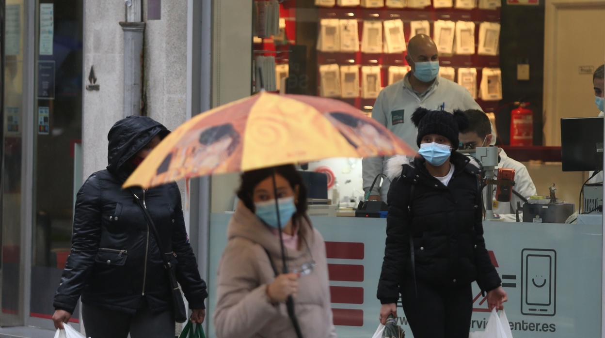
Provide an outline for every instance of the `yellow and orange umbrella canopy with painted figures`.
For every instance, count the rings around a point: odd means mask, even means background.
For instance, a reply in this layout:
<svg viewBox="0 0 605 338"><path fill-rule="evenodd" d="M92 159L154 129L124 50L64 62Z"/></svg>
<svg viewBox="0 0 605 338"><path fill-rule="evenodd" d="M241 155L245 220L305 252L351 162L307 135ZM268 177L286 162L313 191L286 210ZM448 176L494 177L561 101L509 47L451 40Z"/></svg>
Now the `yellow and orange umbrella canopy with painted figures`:
<svg viewBox="0 0 605 338"><path fill-rule="evenodd" d="M169 134L123 187L249 171L332 157L413 155L387 128L347 103L260 93L212 109Z"/></svg>

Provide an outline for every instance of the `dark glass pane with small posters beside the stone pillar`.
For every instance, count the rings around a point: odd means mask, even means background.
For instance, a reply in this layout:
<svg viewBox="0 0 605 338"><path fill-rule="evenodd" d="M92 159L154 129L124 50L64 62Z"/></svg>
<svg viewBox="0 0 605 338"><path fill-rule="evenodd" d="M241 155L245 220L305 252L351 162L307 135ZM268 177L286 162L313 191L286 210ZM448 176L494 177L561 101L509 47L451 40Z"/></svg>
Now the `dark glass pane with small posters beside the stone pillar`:
<svg viewBox="0 0 605 338"><path fill-rule="evenodd" d="M32 317L54 312L71 246L74 187L82 182L82 18L81 1L36 3Z"/></svg>

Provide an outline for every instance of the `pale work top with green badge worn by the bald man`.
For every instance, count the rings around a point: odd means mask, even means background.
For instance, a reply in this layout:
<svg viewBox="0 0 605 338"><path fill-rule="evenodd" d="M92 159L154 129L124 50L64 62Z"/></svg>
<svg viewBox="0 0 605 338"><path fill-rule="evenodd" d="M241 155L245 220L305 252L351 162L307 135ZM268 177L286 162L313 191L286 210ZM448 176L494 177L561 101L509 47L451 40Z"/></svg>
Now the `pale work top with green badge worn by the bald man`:
<svg viewBox="0 0 605 338"><path fill-rule="evenodd" d="M448 112L456 109L482 110L466 88L443 77L437 77L425 93L416 93L410 85L411 74L411 72L406 74L404 79L382 89L374 103L372 118L387 127L412 148L418 149L416 127L411 122L411 115L417 108ZM374 178L384 173L387 160L388 158L384 157L364 158L362 172L365 192L370 190ZM380 180L377 180L370 195L381 195L382 201L386 202L390 181L384 180L380 189L379 185Z"/></svg>

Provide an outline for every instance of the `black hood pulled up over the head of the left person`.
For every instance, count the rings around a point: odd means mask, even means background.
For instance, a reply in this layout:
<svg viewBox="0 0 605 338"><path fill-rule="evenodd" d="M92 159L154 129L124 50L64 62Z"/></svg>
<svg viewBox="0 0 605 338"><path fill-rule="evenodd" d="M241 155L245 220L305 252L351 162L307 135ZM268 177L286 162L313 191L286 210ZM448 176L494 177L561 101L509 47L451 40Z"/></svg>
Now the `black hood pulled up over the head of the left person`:
<svg viewBox="0 0 605 338"><path fill-rule="evenodd" d="M111 127L107 140L110 141L107 152L107 170L122 180L126 180L134 167L129 161L143 149L155 135L166 137L170 131L162 123L151 117L128 116Z"/></svg>

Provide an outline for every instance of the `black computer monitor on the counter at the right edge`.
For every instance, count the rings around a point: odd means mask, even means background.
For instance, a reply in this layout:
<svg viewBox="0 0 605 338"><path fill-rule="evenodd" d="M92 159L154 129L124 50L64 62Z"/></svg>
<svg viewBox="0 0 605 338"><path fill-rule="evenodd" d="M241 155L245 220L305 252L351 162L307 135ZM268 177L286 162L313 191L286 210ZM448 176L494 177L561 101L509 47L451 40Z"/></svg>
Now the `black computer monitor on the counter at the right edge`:
<svg viewBox="0 0 605 338"><path fill-rule="evenodd" d="M561 119L563 171L603 170L603 117Z"/></svg>

